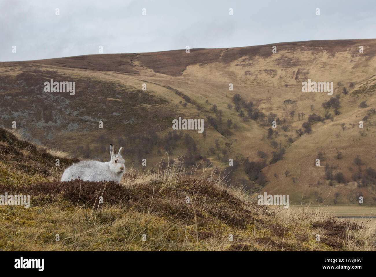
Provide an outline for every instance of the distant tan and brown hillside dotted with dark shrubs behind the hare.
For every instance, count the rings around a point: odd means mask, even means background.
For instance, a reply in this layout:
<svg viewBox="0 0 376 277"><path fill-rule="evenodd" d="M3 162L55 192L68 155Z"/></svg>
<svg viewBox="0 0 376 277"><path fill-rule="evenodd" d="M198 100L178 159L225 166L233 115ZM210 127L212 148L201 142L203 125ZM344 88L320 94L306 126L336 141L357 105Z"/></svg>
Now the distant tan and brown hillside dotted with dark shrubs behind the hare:
<svg viewBox="0 0 376 277"><path fill-rule="evenodd" d="M4 62L0 126L16 121L29 141L85 159L122 145L141 170L184 155L197 175L211 164L227 184L297 204L375 205L375 49L375 39L303 41ZM76 93L44 92L50 79L75 81ZM333 82L333 95L302 92L308 80ZM204 119L205 132L173 132L179 116Z"/></svg>

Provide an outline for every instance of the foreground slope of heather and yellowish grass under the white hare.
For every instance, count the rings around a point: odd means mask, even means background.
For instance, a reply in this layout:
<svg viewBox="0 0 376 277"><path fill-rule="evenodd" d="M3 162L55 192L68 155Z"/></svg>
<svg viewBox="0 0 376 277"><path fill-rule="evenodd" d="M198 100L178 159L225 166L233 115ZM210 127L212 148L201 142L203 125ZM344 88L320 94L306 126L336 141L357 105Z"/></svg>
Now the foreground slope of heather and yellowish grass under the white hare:
<svg viewBox="0 0 376 277"><path fill-rule="evenodd" d="M129 173L121 184L59 182L77 161L62 155L0 129L0 190L31 200L29 208L0 205L0 250L376 249L374 224L338 220L320 209L257 205L210 172L188 176L177 163Z"/></svg>

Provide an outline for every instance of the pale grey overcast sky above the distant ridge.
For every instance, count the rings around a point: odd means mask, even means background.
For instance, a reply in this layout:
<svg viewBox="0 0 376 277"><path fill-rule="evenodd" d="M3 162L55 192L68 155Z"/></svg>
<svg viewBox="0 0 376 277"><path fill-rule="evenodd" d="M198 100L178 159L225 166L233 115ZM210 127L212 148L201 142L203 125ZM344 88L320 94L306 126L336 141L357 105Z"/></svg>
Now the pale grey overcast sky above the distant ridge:
<svg viewBox="0 0 376 277"><path fill-rule="evenodd" d="M99 54L99 46L104 54L155 52L375 32L375 0L0 0L0 61Z"/></svg>

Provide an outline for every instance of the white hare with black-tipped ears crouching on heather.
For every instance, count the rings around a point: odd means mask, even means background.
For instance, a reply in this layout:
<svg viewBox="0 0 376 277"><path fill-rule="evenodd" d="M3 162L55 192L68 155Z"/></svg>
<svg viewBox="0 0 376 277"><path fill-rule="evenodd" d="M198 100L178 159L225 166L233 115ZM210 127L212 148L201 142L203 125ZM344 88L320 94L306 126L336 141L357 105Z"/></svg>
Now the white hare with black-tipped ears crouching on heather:
<svg viewBox="0 0 376 277"><path fill-rule="evenodd" d="M114 145L110 144L111 161L81 161L68 167L61 181L68 182L77 178L83 181L117 181L120 182L124 174L124 159L122 157L124 147L120 147L116 154Z"/></svg>

